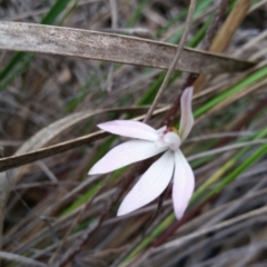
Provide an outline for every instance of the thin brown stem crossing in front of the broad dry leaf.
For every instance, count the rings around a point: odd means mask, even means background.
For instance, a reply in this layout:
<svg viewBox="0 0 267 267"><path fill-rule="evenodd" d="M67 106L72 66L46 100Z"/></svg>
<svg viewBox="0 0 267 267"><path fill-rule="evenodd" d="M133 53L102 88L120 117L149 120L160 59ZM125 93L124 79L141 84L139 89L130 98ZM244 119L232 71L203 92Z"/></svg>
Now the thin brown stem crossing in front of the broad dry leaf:
<svg viewBox="0 0 267 267"><path fill-rule="evenodd" d="M195 8L196 8L196 2L197 2L196 0L190 1L190 7L189 7L189 10L188 10L188 16L187 16L185 30L184 30L180 43L177 48L176 56L175 56L175 58L174 58L174 60L172 60L172 62L171 62L171 65L170 65L170 67L167 71L167 75L164 79L164 82L162 82L161 87L158 90L158 93L157 93L156 98L154 99L154 102L152 102L151 107L149 108L149 110L147 112L146 118L144 119L144 122L147 122L150 119L154 110L156 109L156 107L158 105L158 101L159 101L160 97L162 96L164 91L166 90L166 88L168 86L169 79L170 79L170 77L171 77L171 75L175 70L175 67L176 67L176 65L177 65L177 62L178 62L178 60L181 56L181 52L184 50L184 47L185 47L185 43L186 43L186 40L187 40L187 36L188 36L190 27L191 27L191 21L192 21L194 11L195 11Z"/></svg>

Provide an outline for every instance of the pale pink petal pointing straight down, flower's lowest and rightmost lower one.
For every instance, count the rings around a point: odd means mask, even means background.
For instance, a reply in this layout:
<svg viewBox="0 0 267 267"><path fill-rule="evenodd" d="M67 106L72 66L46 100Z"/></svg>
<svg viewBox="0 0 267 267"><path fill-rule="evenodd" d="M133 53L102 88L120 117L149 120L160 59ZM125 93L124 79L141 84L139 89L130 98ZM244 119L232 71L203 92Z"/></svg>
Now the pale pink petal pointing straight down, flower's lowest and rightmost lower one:
<svg viewBox="0 0 267 267"><path fill-rule="evenodd" d="M195 188L195 176L190 165L180 150L175 152L175 176L172 201L177 219L180 219L188 206Z"/></svg>

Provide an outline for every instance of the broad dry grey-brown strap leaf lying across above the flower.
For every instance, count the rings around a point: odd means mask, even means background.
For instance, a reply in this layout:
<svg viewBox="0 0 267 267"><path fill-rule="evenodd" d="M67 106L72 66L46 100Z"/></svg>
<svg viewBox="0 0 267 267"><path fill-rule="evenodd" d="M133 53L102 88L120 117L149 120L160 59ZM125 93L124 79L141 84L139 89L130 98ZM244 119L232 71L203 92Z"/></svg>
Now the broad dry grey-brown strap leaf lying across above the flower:
<svg viewBox="0 0 267 267"><path fill-rule="evenodd" d="M168 43L98 31L33 23L0 23L0 49L168 69L177 47ZM184 49L177 70L195 73L224 73L246 70L255 62Z"/></svg>

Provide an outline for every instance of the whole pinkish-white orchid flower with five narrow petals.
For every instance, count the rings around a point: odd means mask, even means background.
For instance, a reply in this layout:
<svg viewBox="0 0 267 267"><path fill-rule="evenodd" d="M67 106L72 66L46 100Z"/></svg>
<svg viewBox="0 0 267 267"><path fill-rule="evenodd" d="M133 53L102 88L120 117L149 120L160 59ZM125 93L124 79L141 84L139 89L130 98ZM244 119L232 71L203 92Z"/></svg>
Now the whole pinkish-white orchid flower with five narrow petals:
<svg viewBox="0 0 267 267"><path fill-rule="evenodd" d="M111 149L89 171L100 175L113 171L127 165L165 152L140 177L138 182L122 200L118 216L131 212L160 196L174 177L172 202L177 219L180 219L188 206L195 187L194 172L179 149L189 135L194 117L191 112L192 87L188 87L180 100L180 128L162 127L159 130L131 120L113 120L98 125L105 131L136 138Z"/></svg>

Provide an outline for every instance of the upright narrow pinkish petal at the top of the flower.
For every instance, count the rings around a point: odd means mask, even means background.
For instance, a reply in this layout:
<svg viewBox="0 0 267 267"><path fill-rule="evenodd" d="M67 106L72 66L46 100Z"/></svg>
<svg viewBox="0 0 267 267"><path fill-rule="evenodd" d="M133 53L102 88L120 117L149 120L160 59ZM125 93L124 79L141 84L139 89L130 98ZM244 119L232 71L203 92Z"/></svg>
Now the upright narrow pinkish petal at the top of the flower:
<svg viewBox="0 0 267 267"><path fill-rule="evenodd" d="M194 126L194 117L191 111L192 92L194 92L192 87L186 88L180 99L181 118L179 134L181 137L181 141L184 141L187 138Z"/></svg>

